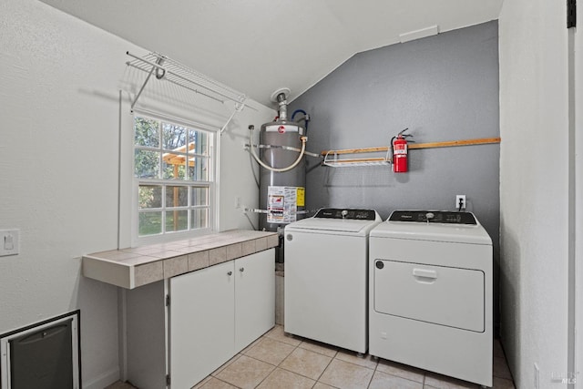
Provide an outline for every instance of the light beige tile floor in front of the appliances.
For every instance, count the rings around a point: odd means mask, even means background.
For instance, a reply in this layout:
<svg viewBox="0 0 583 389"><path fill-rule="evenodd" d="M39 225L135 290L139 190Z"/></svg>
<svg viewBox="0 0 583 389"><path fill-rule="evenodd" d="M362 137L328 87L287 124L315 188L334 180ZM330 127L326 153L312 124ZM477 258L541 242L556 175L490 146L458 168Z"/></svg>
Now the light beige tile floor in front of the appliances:
<svg viewBox="0 0 583 389"><path fill-rule="evenodd" d="M500 343L494 343L493 387L514 389ZM107 389L131 389L114 384ZM479 385L411 366L374 360L327 344L288 336L281 325L235 355L194 389L457 389ZM182 388L178 388L182 389Z"/></svg>

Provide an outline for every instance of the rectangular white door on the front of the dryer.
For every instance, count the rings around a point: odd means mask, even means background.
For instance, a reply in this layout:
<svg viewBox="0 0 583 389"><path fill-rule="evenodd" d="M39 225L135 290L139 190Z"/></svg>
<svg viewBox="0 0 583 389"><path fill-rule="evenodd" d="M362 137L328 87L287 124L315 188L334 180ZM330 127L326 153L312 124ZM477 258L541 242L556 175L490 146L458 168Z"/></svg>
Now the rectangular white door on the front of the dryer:
<svg viewBox="0 0 583 389"><path fill-rule="evenodd" d="M374 261L374 311L484 332L484 271Z"/></svg>

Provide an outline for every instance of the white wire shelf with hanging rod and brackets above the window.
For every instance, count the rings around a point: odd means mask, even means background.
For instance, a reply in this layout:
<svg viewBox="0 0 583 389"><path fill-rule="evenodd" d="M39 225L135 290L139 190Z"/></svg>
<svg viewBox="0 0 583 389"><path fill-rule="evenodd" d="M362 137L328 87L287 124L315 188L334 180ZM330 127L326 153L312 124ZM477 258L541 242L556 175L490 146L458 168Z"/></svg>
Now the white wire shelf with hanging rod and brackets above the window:
<svg viewBox="0 0 583 389"><path fill-rule="evenodd" d="M210 97L220 103L225 103L225 101L232 101L235 103L233 114L230 116L227 123L221 128L221 133L227 128L227 125L230 123L230 120L234 117L235 113L240 112L244 107L250 107L253 110L257 110L256 108L245 104L247 97L243 93L231 87L227 87L219 81L207 77L194 69L186 67L178 61L170 59L168 56L163 56L155 52L150 52L148 55L142 57L135 56L129 51L127 51L126 54L133 58L126 62L126 65L148 73L148 77L146 77L144 84L140 87L136 97L134 97L134 101L132 101L132 109L136 106L138 98L144 91L144 87L146 87L148 81L152 75L154 75L160 80L164 79L172 84L178 85L179 87L189 89L199 95Z"/></svg>

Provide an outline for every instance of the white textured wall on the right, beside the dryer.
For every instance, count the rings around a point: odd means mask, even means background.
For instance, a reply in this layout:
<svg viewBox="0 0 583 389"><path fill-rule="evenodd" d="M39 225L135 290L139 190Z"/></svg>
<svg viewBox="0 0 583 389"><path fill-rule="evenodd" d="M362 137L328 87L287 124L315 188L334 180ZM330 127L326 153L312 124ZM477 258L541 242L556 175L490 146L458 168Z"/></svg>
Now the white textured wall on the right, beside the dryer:
<svg viewBox="0 0 583 389"><path fill-rule="evenodd" d="M518 388L568 373L565 2L506 0L499 18L502 342Z"/></svg>

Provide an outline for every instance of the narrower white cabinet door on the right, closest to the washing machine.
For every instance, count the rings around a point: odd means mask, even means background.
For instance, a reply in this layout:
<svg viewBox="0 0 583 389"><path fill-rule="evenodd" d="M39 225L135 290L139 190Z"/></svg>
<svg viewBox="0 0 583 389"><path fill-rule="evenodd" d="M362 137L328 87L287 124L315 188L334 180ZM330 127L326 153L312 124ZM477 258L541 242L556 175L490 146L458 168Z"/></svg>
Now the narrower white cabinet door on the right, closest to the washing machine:
<svg viewBox="0 0 583 389"><path fill-rule="evenodd" d="M235 352L275 325L274 249L235 260Z"/></svg>

